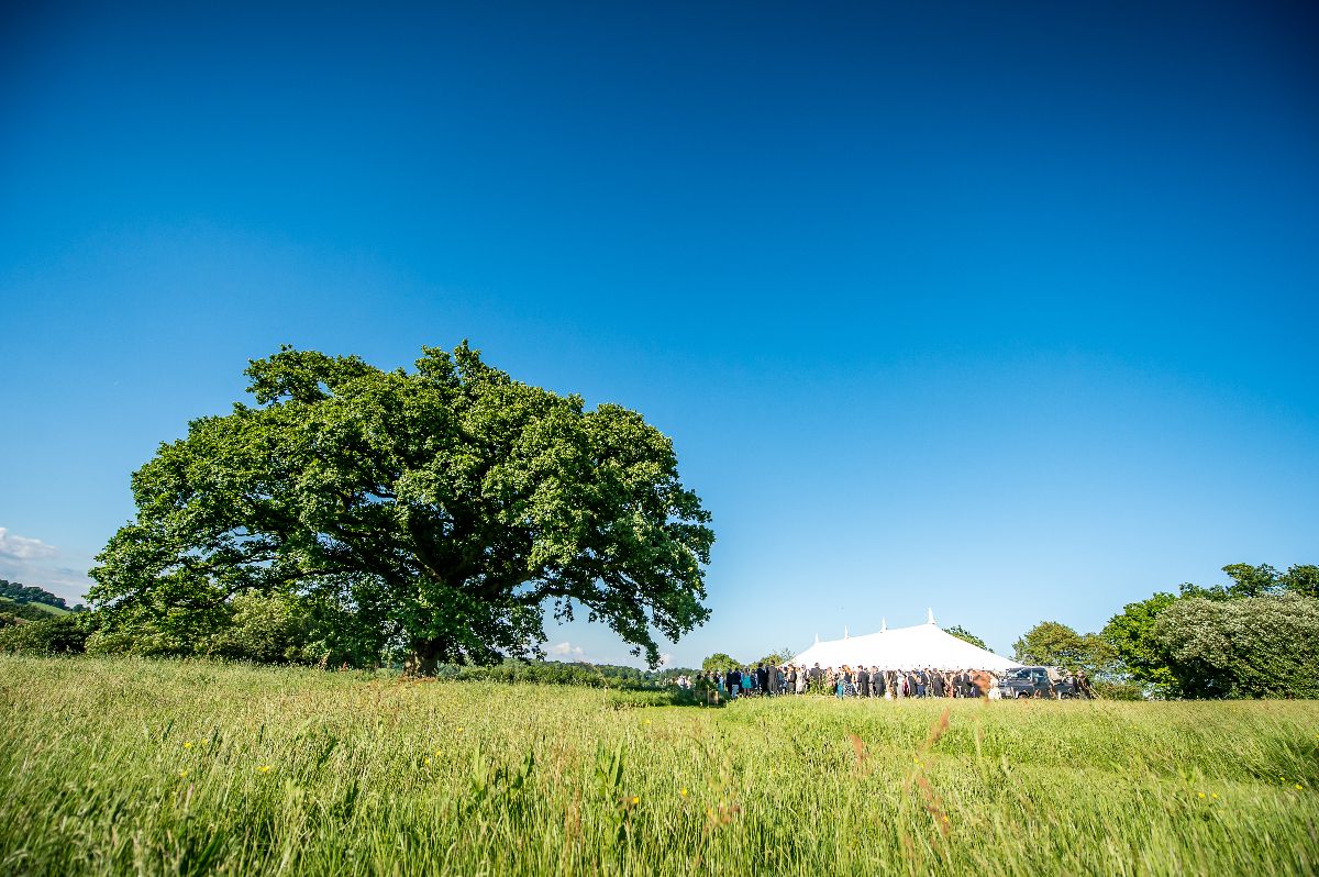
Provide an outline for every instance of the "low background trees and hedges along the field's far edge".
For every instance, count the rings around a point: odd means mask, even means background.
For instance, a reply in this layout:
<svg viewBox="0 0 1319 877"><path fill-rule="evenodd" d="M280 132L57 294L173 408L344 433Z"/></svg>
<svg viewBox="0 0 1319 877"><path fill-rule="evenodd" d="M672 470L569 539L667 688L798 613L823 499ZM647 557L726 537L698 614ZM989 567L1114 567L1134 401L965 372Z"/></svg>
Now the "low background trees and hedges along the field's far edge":
<svg viewBox="0 0 1319 877"><path fill-rule="evenodd" d="M1279 572L1268 564L1235 563L1223 571L1225 583L1187 583L1177 593L1154 593L1128 604L1093 633L1042 621L1013 644L1013 657L1086 670L1109 698L1319 698L1319 567L1298 564ZM0 597L0 651L211 657L327 669L404 661L405 642L381 649L373 632L355 637L342 619L327 620L335 611L294 595L244 592L226 604L224 624L189 636L177 625L102 628L96 613L53 617L30 601ZM948 633L984 646L964 628ZM716 653L702 670L783 663L791 657L785 648L747 665ZM683 673L695 671L543 661L437 666L437 675L452 679L637 690L666 684Z"/></svg>

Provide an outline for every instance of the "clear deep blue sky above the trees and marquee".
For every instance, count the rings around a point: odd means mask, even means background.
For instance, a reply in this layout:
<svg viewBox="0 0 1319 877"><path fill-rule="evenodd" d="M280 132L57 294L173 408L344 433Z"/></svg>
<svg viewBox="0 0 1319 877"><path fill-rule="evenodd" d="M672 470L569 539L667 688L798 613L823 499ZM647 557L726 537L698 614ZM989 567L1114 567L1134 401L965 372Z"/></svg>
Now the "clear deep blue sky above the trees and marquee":
<svg viewBox="0 0 1319 877"><path fill-rule="evenodd" d="M338 5L5 7L0 576L248 359L464 338L674 438L679 663L1319 562L1308 4Z"/></svg>

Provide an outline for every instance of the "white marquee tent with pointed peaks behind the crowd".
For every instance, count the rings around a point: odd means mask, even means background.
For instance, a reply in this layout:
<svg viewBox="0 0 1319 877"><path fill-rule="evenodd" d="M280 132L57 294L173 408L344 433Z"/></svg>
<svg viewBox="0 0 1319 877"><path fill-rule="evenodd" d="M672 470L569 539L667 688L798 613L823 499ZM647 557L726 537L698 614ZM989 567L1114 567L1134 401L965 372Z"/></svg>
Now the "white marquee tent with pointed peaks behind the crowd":
<svg viewBox="0 0 1319 877"><path fill-rule="evenodd" d="M951 633L943 632L934 622L934 612L930 612L929 621L914 628L888 628L878 633L869 633L861 637L844 636L842 640L827 640L820 642L816 637L815 645L793 658L797 666L822 667L864 666L878 667L880 670L989 670L1001 673L1009 667L1020 667L1016 661L1009 661L993 651L973 646L966 640L959 640Z"/></svg>

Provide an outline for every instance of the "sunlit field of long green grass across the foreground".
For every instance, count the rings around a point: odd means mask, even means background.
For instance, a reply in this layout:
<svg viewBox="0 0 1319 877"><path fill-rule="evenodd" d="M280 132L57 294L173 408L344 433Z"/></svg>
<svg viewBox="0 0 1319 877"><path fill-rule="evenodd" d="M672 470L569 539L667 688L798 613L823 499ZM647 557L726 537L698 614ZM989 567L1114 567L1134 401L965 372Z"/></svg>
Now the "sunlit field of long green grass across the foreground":
<svg viewBox="0 0 1319 877"><path fill-rule="evenodd" d="M4 657L0 710L3 874L1319 869L1314 702L620 710Z"/></svg>

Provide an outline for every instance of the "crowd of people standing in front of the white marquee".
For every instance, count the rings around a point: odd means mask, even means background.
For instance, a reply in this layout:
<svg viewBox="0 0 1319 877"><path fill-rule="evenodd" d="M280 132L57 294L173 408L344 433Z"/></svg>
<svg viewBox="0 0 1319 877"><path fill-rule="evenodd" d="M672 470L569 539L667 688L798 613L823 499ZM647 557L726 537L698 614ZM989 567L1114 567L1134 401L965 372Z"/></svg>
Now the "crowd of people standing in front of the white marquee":
<svg viewBox="0 0 1319 877"><path fill-rule="evenodd" d="M707 696L832 694L836 698L998 698L998 678L988 670L880 670L878 667L813 667L765 665L728 667L679 677L678 686ZM1093 692L1083 671L1050 677L1047 692L1039 696L1091 698Z"/></svg>

